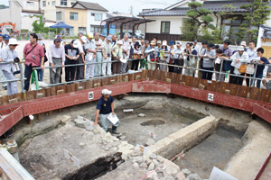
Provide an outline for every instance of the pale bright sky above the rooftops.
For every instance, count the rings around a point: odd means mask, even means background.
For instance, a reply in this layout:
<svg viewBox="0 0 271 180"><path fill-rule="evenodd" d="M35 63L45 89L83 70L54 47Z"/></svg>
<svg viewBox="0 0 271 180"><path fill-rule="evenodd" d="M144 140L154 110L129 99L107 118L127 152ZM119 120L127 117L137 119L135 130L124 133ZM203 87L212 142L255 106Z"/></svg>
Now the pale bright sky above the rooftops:
<svg viewBox="0 0 271 180"><path fill-rule="evenodd" d="M108 13L118 12L130 14L131 5L133 15L138 15L142 9L147 8L166 8L180 0L81 0L89 3L98 3L108 10ZM8 5L8 0L0 0L0 4Z"/></svg>

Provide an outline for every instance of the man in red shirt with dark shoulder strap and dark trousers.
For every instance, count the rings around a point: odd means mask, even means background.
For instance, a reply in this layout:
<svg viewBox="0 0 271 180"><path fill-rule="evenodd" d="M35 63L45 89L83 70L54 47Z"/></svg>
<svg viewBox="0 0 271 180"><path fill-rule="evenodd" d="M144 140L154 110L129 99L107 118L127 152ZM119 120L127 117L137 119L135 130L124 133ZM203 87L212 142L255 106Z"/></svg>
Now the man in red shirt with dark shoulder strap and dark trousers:
<svg viewBox="0 0 271 180"><path fill-rule="evenodd" d="M25 59L24 67L24 91L29 90L30 77L32 75L33 67L42 67L44 70L44 49L38 44L38 35L36 33L30 34L30 43L27 43L23 49L23 58ZM38 72L39 75L39 72Z"/></svg>

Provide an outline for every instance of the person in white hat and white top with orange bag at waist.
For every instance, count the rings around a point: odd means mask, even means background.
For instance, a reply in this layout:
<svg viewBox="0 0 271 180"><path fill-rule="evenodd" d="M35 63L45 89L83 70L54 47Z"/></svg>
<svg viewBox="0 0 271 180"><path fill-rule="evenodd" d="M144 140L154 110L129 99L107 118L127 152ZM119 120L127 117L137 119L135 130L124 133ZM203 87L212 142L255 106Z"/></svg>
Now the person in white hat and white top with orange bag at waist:
<svg viewBox="0 0 271 180"><path fill-rule="evenodd" d="M234 53L230 59L232 59L231 66L234 67L233 74L239 76L229 76L229 83L235 85L243 85L243 79L245 76L246 70L244 72L241 71L241 65L246 65L248 62L248 52L245 52L243 46L238 47L238 52Z"/></svg>

